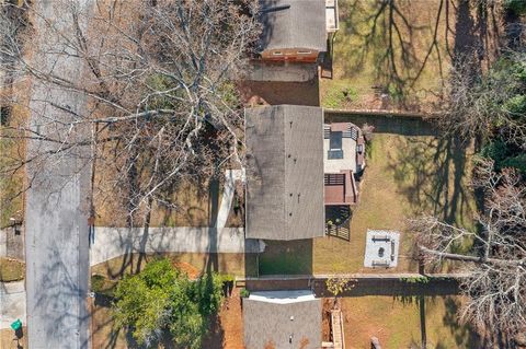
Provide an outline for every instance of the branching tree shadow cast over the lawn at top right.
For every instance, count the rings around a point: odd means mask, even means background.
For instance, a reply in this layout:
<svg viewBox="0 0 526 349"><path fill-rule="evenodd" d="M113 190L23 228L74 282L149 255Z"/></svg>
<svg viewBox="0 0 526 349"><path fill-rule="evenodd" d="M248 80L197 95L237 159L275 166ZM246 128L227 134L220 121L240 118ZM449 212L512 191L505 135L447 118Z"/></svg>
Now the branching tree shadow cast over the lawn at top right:
<svg viewBox="0 0 526 349"><path fill-rule="evenodd" d="M371 88L408 109L443 97L451 62L489 65L499 53L501 18L492 1L354 0L342 1L340 12L335 59L343 78L371 74Z"/></svg>

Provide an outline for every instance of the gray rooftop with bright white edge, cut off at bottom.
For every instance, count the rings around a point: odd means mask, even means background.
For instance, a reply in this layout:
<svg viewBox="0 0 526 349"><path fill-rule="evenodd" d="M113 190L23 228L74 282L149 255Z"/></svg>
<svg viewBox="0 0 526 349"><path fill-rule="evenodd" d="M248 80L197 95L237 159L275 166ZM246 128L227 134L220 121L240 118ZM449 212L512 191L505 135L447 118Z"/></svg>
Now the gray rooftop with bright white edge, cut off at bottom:
<svg viewBox="0 0 526 349"><path fill-rule="evenodd" d="M253 292L243 300L245 348L319 349L321 312L310 290Z"/></svg>

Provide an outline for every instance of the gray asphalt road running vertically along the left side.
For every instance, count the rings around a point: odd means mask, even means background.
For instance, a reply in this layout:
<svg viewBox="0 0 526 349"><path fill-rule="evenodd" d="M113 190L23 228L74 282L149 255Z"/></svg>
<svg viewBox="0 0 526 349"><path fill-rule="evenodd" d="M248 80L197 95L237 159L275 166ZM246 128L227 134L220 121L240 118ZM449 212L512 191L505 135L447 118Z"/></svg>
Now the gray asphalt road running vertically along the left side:
<svg viewBox="0 0 526 349"><path fill-rule="evenodd" d="M72 1L81 7L92 0ZM46 19L56 21L59 28L69 27L71 16L58 9L57 1L39 0L34 5ZM89 9L89 8L87 8ZM89 10L88 10L89 11ZM45 71L53 71L68 80L81 77L82 65L71 56L62 55L64 39L53 39L44 20L36 18L37 47L53 48L54 53L34 55L33 61ZM46 135L65 135L66 129L49 118L68 120L70 115L48 102L67 105L72 110L85 107L85 98L70 91L46 89L33 81L31 127ZM38 102L36 102L38 101ZM57 147L33 140L28 154ZM28 177L36 174L26 195L26 291L28 347L90 348L90 315L87 309L89 278L89 241L87 194L89 166L76 154L52 156L43 164L28 166Z"/></svg>

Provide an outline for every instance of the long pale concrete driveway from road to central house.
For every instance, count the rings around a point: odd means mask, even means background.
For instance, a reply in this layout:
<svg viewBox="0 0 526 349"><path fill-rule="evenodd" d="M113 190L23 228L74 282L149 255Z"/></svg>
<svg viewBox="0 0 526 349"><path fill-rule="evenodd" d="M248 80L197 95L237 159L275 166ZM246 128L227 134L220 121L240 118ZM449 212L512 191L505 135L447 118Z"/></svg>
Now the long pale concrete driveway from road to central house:
<svg viewBox="0 0 526 349"><path fill-rule="evenodd" d="M145 235L146 234L146 235ZM129 253L260 253L264 243L245 240L243 228L105 228L96 226L90 265Z"/></svg>

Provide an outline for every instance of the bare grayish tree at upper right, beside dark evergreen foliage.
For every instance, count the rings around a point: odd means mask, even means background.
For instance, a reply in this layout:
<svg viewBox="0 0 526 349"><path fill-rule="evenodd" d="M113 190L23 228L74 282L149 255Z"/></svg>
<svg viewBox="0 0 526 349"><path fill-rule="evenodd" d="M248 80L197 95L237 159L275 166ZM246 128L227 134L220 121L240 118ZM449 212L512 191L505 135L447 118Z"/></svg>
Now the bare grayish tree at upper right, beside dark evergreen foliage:
<svg viewBox="0 0 526 349"><path fill-rule="evenodd" d="M521 73L514 71L513 66L524 67L526 55L508 51L504 60L484 75L473 72L473 62L469 58L455 65L446 92L448 97L436 119L447 133L483 141L499 136L526 149L524 115L510 109L506 104L524 90Z"/></svg>

